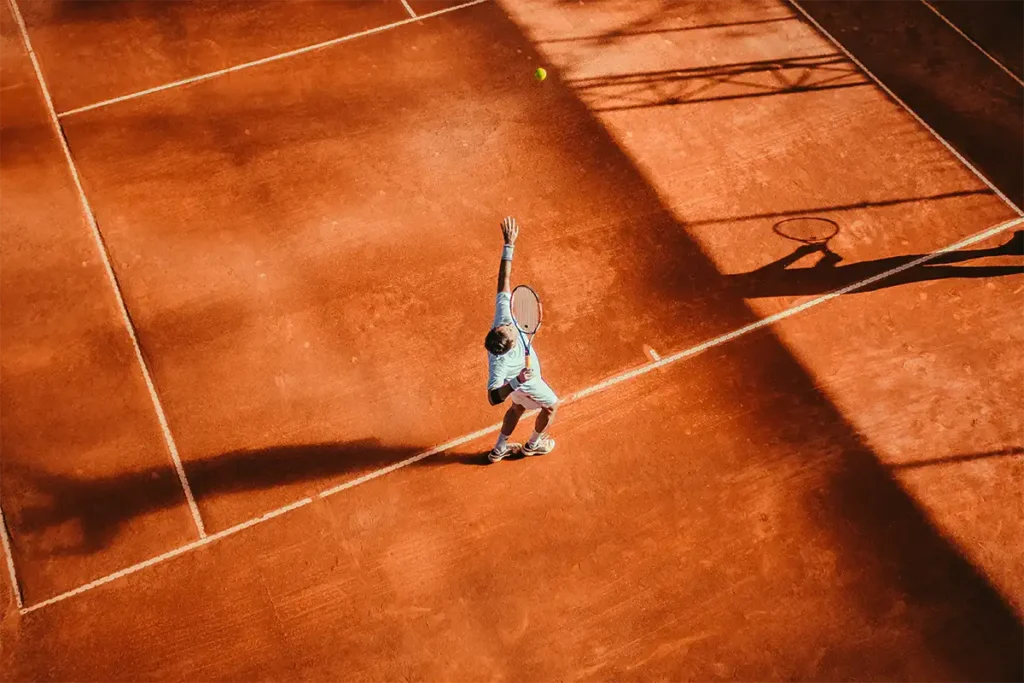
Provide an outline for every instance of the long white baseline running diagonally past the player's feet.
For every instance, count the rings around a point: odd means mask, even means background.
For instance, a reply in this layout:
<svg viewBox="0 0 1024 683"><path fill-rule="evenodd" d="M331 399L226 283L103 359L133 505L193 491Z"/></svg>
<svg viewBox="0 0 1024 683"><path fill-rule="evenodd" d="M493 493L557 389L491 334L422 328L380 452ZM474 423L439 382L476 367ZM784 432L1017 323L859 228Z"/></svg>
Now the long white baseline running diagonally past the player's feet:
<svg viewBox="0 0 1024 683"><path fill-rule="evenodd" d="M949 252L954 252L954 251L957 251L959 249L964 249L965 247L969 247L969 246L971 246L971 245L973 245L975 243L982 242L983 240L987 240L988 238L991 238L991 237L993 237L995 234L998 234L999 232L1004 232L1004 231L1010 229L1011 227L1014 227L1014 226L1020 225L1020 224L1024 224L1024 217L1015 218L1015 219L1007 221L1005 223L1000 223L1000 224L995 225L993 227L990 227L990 228L988 228L986 230L982 230L981 232L978 232L978 233L976 233L976 234L974 234L972 237L969 237L969 238L966 238L964 240L961 240L959 242L956 242L956 243L954 243L952 245L949 245L948 247L944 247L944 248L939 249L937 251L934 251L934 252L931 252L929 254L926 254L926 255L924 255L924 256L922 256L920 258L916 258L916 259L914 259L912 261L904 263L901 266L892 268L890 270L886 270L886 271L881 272L881 273L879 273L877 275L873 275L871 278L863 280L863 281L861 281L859 283L855 283L853 285L849 285L847 287L844 287L843 289L836 290L835 292L830 292L829 294L825 294L825 295L816 297L816 298L811 299L809 301L806 301L806 302L804 302L804 303L802 303L802 304L800 304L798 306L795 306L793 308L788 308L788 309L783 310L781 312L775 313L774 315L769 315L768 317L765 317L765 318L762 318L760 321L757 321L756 323L752 323L751 325L748 325L745 327L739 328L738 330L735 330L735 331L730 332L728 334L724 334L724 335L722 335L720 337L715 337L714 339L706 341L702 344L697 344L696 346L691 346L690 348L687 348L685 350L679 351L677 353L673 353L672 355L665 356L665 357L660 358L659 360L648 362L648 364L646 364L644 366L641 366L639 368L635 368L633 370L630 370L630 371L627 371L627 372L622 373L620 375L616 375L614 377L611 377L610 379L607 379L607 380L605 380L603 382L600 382L600 383L595 384L595 385L593 385L591 387L588 387L586 389L582 389L581 391L577 391L575 393L570 394L567 398L563 399L562 402L563 403L567 403L567 402L573 402L573 401L581 400L581 399L586 398L587 396L595 394L595 393L597 393L599 391L603 391L605 389L613 387L616 384L622 384L623 382L627 382L629 380L636 379L637 377L640 377L642 375L646 375L647 373L650 373L650 372L652 372L654 370L657 370L658 368L664 368L665 366L669 366L671 364L677 362L679 360L682 360L683 358L688 358L690 356L697 355L698 353L707 351L710 348L713 348L715 346L720 346L722 344L725 344L726 342L732 341L733 339L736 339L737 337L742 337L743 335L746 335L746 334L750 334L752 332L755 332L756 330L760 330L761 328L765 328L765 327L768 327L770 325L773 325L774 323L777 323L777 322L779 322L779 321L781 321L783 318L790 317L791 315L796 315L797 313L801 313L801 312L803 312L803 311L805 311L805 310L807 310L809 308L813 308L814 306L818 306L818 305L820 305L822 303L825 303L826 301L830 301L830 300L835 299L836 297L842 296L844 294L848 294L850 292L854 292L854 291L856 291L858 289L862 289L864 287L867 287L868 285L872 285L872 284L879 282L880 280L885 280L886 278L891 278L892 275L895 275L895 274L898 274L900 272L903 272L904 270L908 270L908 269L913 268L915 266L919 266L919 265L921 265L923 263L927 263L928 261L934 260L934 259L938 258L939 256L941 256L943 254L947 254ZM536 413L536 412L537 411L530 411L529 414L532 414L532 413ZM424 451L423 453L417 454L417 455L413 456L412 458L407 458L406 460L402 460L400 462L394 463L393 465L389 465L387 467L382 467L381 469L374 470L373 472L370 472L370 473L365 474L365 475L362 475L360 477L352 479L351 481L346 481L345 483L342 483L340 485L332 486L331 488L327 488L327 489L321 492L319 494L317 494L314 498L316 498L316 499L328 498L329 496L334 496L335 494L339 494L339 493L341 493L343 490L347 490L347 489L352 488L354 486L358 486L359 484L362 484L362 483L366 483L368 481L372 481L374 479L382 477L385 474L390 474L391 472L394 472L396 470L400 470L402 468L409 467L410 465L418 463L421 460L429 458L430 456L435 456L435 455L437 455L439 453L443 453L445 451L450 451L451 449L454 449L456 446L462 445L463 443L467 443L467 442L472 441L474 439L477 439L477 438L479 438L481 436L485 436L485 435L487 435L489 433L496 432L496 431L498 431L501 428L501 426L502 425L499 422L499 423L490 425L489 427L484 427L483 429L478 429L475 432L472 432L470 434L466 434L465 436L460 436L460 437L458 437L456 439L447 441L446 443L442 443L440 445L434 446L433 449L430 449L429 451ZM61 593L60 595L54 596L54 597L49 598L47 600L43 600L42 602L36 603L36 604L34 604L34 605L30 606L30 607L25 607L20 611L22 611L23 614L27 614L29 612L35 611L37 609L40 609L42 607L46 607L47 605L52 605L52 604L54 604L56 602L60 602L62 600L67 600L68 598L74 597L76 595L81 595L82 593L85 593L86 591L90 591L90 590L92 590L94 588L97 588L99 586L102 586L104 584L109 584L112 581L115 581L117 579L121 579L123 577L127 577L129 574L135 573L136 571L139 571L140 569L144 569L145 567L153 566L154 564L158 564L159 562L163 562L164 560L169 560L172 557L177 557L178 555L186 553L189 550L195 550L197 548L202 548L203 546L206 546L206 545L208 545L210 543L213 543L214 541L216 541L218 539L223 539L224 537L231 536L232 533L237 533L238 531L241 531L243 529L249 528L251 526L255 526L256 524L264 522L264 521L266 521L268 519L273 519L274 517L279 517L279 516L285 514L286 512L290 512L292 510L296 510L298 508L301 508L301 507L304 507L306 505L309 505L311 502L312 502L312 498L304 498L301 501L296 501L295 503L292 503L290 505L286 505L285 507L278 508L276 510L273 510L272 512L268 512L268 513L266 513L264 515L256 517L255 519L250 519L247 522L243 522L241 524L237 524L236 526L231 526L230 528L226 528L226 529L224 529L222 531L217 531L216 533L208 536L205 539L202 539L200 541L195 541L195 542L189 543L189 544L187 544L185 546L181 546L180 548L175 548L174 550L166 552L163 555L159 555L157 557L154 557L152 559L145 560L143 562L139 562L138 564L133 564L130 567L126 567L126 568L121 569L119 571L115 571L114 573L108 574L108 575L105 575L105 577L103 577L101 579L97 579L97 580L95 580L95 581L93 581L91 583L88 583L88 584L85 584L83 586L79 586L78 588L72 589L72 590L68 591L67 593Z"/></svg>

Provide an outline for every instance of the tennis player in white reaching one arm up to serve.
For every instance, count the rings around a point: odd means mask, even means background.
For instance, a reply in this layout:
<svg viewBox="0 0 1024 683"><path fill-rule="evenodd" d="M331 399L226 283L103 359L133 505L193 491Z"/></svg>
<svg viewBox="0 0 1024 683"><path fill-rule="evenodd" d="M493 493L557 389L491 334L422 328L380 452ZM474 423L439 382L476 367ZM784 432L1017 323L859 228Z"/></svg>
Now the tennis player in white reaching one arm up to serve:
<svg viewBox="0 0 1024 683"><path fill-rule="evenodd" d="M530 364L526 367L526 354L523 341L512 319L512 253L515 250L515 240L519 236L519 225L515 218L502 221L502 233L505 237L505 248L502 250L502 263L498 269L498 305L495 310L495 321L483 341L487 349L487 400L492 405L512 399L512 404L505 413L498 442L487 455L487 460L497 463L506 456L520 450L519 444L510 443L509 437L519 423L519 418L528 410L540 410L534 426L534 434L521 446L524 456L542 456L551 453L555 440L545 432L551 426L558 409L558 396L541 377L541 359L530 346Z"/></svg>

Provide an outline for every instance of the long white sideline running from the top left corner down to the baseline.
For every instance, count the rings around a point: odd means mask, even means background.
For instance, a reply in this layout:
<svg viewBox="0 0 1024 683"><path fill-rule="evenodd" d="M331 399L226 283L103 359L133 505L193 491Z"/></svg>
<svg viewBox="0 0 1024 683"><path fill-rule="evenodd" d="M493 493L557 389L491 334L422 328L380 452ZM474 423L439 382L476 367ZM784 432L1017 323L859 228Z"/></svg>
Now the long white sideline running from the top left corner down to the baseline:
<svg viewBox="0 0 1024 683"><path fill-rule="evenodd" d="M35 50L32 49L32 41L29 40L29 31L25 26L25 19L22 18L22 11L17 7L17 0L9 0L9 4L11 13L14 15L14 19L17 22L17 27L22 32L22 40L25 42L25 49L29 53L29 58L32 60L33 69L36 70L36 78L39 80L39 89L43 93L43 99L46 101L46 110L50 115L50 123L53 124L54 133L56 133L56 137L60 141L60 148L63 151L65 160L68 162L68 168L71 171L71 177L75 181L75 188L78 190L78 199L82 203L82 212L85 214L86 221L89 223L92 238L96 243L96 250L99 252L99 258L103 262L103 268L106 270L106 278L111 283L111 288L114 290L114 297L117 299L118 308L121 311L121 318L128 331L128 336L131 338L132 349L135 351L135 359L138 360L138 367L142 372L142 378L145 380L145 387L150 391L150 399L153 401L153 410L156 412L157 419L160 421L160 428L164 432L164 441L167 443L167 450L171 455L171 460L174 461L174 469L178 473L178 480L181 482L181 487L185 493L185 499L188 501L188 509L191 510L193 520L196 522L196 528L199 530L200 538L203 538L206 536L206 528L203 526L203 518L199 514L199 507L196 505L196 499L193 497L191 486L188 485L188 479L185 477L185 470L181 466L181 458L178 456L178 446L174 442L174 436L171 434L170 425L167 424L167 416L164 414L164 407L160 402L160 396L157 395L157 387L153 383L153 377L150 374L150 367L146 365L145 358L142 356L142 347L139 346L138 337L135 334L135 326L132 324L131 315L128 313L128 306L125 304L124 296L121 293L121 285L118 283L118 276L114 272L114 266L111 265L110 254L106 251L106 245L103 244L103 236L99 232L99 224L96 222L96 216L92 212L89 200L85 196L85 189L82 187L82 178L79 176L78 167L75 165L75 160L71 156L71 147L68 146L68 139L65 137L63 129L60 127L60 122L57 120L56 110L53 109L53 100L50 98L50 91L46 87L46 79L43 78L43 71L39 67L39 60L36 58Z"/></svg>

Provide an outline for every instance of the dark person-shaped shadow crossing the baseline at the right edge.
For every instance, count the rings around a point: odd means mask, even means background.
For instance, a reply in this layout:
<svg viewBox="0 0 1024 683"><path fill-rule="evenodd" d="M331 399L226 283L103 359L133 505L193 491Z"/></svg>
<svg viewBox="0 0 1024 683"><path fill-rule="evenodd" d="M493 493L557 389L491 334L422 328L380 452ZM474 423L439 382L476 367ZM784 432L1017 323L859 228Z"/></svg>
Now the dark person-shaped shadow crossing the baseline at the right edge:
<svg viewBox="0 0 1024 683"><path fill-rule="evenodd" d="M798 261L819 255L812 265L792 267ZM980 259L1024 256L1024 230L1018 230L996 247L966 249L938 254L930 260L912 264L927 254L904 254L846 263L827 244L801 245L782 258L749 272L724 274L729 290L746 299L774 296L804 296L835 292L846 287L884 278L858 287L854 292L948 279L996 278L1024 273L1024 259L1015 264L965 265ZM904 270L898 270L906 266ZM895 271L895 272L894 272Z"/></svg>

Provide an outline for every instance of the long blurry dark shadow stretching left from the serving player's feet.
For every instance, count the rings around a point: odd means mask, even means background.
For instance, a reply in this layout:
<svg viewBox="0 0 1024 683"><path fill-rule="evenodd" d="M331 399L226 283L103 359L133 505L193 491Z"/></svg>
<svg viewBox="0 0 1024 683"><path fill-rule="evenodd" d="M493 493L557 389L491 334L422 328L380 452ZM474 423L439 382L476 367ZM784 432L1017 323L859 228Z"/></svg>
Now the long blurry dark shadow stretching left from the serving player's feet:
<svg viewBox="0 0 1024 683"><path fill-rule="evenodd" d="M226 494L309 482L315 495L338 477L352 478L401 462L426 449L384 445L374 439L233 451L191 461L186 474L199 501ZM46 533L54 554L90 554L109 546L135 517L185 505L174 468L152 467L116 476L78 477L8 466L30 503L11 511L18 536ZM59 527L59 528L57 528Z"/></svg>

